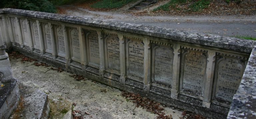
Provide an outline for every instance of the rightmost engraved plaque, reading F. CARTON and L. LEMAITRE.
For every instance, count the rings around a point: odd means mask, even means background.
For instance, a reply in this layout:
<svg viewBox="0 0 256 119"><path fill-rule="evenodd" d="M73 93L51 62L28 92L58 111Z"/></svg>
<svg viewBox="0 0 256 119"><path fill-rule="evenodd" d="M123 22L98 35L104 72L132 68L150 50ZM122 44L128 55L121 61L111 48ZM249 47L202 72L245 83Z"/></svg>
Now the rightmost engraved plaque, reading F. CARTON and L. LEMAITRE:
<svg viewBox="0 0 256 119"><path fill-rule="evenodd" d="M217 72L215 97L232 101L241 82L244 67L232 58L220 59Z"/></svg>

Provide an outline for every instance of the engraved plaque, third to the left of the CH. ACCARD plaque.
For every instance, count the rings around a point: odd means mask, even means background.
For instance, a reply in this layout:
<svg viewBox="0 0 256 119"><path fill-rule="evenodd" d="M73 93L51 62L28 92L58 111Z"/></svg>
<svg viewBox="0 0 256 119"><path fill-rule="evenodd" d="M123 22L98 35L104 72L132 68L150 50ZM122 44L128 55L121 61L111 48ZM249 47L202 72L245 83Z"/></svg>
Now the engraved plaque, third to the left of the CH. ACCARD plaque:
<svg viewBox="0 0 256 119"><path fill-rule="evenodd" d="M58 37L58 54L61 53L65 55L65 41L64 41L64 31L62 27L57 28Z"/></svg>

